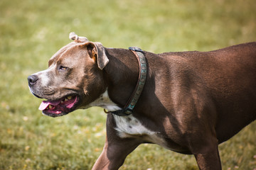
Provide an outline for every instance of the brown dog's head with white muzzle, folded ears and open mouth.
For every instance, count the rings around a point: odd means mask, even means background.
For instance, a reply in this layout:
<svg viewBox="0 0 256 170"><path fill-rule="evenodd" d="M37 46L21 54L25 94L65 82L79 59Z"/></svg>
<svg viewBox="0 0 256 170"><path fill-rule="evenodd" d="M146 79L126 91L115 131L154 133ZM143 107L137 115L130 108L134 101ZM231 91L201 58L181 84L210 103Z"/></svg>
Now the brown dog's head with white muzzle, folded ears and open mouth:
<svg viewBox="0 0 256 170"><path fill-rule="evenodd" d="M70 42L50 58L48 69L28 77L31 93L46 98L43 114L66 115L94 101L106 90L102 69L109 61L100 42L70 33Z"/></svg>

